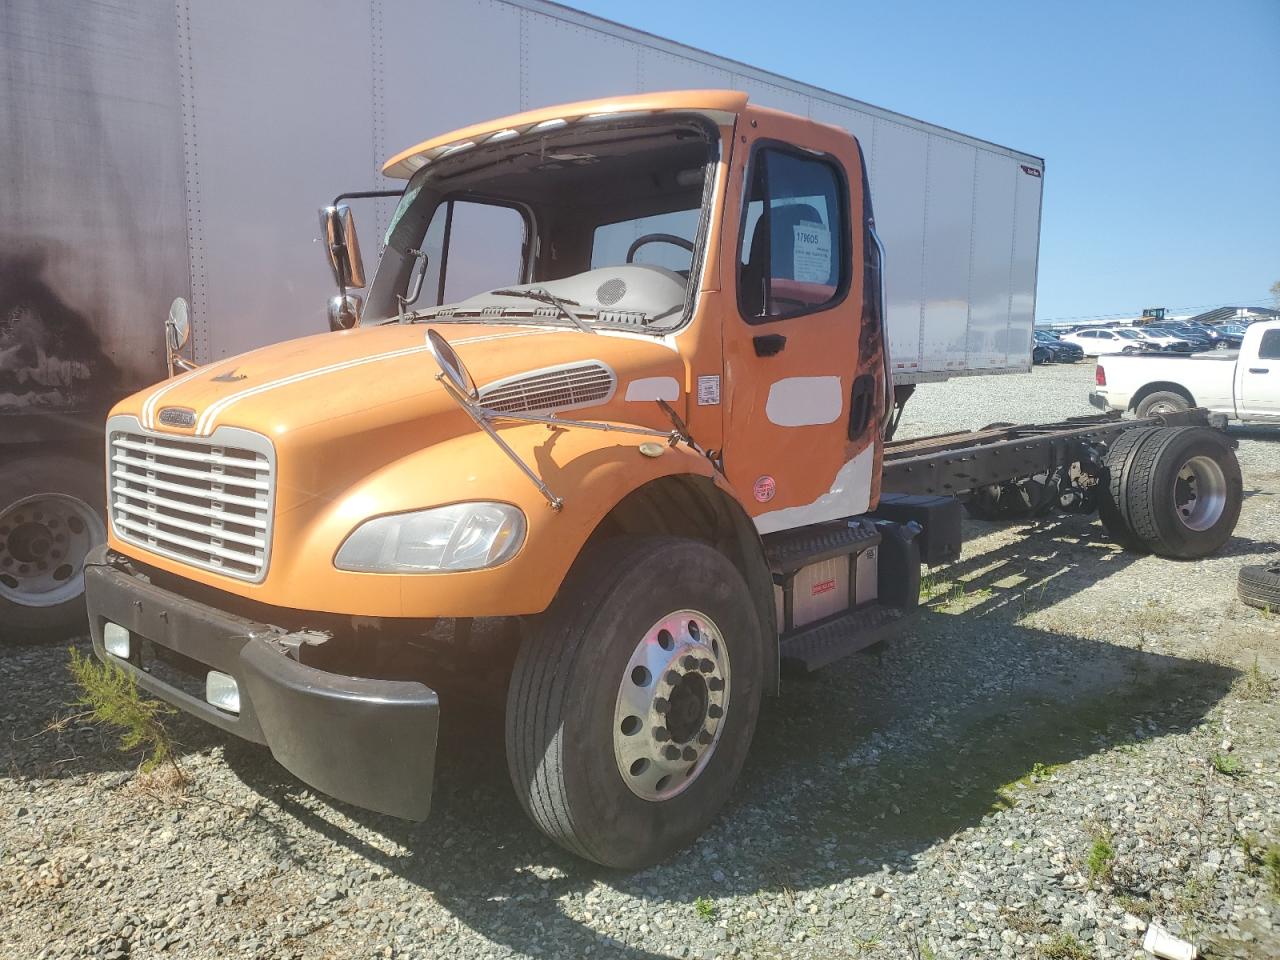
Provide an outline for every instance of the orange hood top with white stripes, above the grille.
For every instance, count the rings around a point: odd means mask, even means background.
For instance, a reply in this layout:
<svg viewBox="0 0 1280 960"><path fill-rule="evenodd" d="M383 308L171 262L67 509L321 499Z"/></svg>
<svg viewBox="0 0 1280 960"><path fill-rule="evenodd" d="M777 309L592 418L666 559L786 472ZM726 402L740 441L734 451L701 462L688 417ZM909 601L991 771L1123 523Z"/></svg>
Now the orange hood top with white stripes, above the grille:
<svg viewBox="0 0 1280 960"><path fill-rule="evenodd" d="M668 429L657 404L627 402L637 379L669 378L686 393L680 355L655 338L588 334L562 326L440 324L481 390L547 367L598 361L616 378L602 403L567 416ZM113 415L175 436L238 426L269 436L280 457L276 511L332 498L370 471L430 444L476 430L435 379L426 324L371 326L287 340L157 384ZM682 408L677 401L673 406ZM193 419L173 426L161 411ZM168 419L168 417L166 417Z"/></svg>

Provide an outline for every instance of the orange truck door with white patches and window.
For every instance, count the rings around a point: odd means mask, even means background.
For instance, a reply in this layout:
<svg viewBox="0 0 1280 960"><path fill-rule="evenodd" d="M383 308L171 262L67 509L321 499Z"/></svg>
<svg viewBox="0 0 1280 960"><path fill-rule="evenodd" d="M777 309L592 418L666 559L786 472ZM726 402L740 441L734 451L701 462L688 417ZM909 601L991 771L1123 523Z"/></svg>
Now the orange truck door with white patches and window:
<svg viewBox="0 0 1280 960"><path fill-rule="evenodd" d="M721 244L723 462L772 532L878 497L882 337L878 308L860 337L869 241L856 142L768 111L745 114L739 134Z"/></svg>

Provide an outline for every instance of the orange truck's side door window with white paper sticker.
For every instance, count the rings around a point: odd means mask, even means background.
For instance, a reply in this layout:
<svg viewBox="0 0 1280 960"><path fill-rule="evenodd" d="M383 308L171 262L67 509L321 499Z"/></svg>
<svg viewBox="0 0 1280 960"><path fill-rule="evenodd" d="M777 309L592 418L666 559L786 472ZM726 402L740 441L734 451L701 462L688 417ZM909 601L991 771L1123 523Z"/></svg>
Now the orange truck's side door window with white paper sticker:
<svg viewBox="0 0 1280 960"><path fill-rule="evenodd" d="M824 310L849 291L849 200L829 160L759 146L739 251L739 306L751 323Z"/></svg>

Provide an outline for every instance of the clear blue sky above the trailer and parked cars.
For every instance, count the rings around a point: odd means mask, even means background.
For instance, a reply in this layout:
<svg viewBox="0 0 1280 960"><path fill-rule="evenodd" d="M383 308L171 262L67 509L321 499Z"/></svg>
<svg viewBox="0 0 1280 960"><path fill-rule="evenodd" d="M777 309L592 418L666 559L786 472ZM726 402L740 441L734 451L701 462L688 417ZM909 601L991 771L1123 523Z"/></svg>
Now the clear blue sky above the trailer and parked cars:
<svg viewBox="0 0 1280 960"><path fill-rule="evenodd" d="M1280 0L568 3L1043 156L1041 320L1270 306Z"/></svg>

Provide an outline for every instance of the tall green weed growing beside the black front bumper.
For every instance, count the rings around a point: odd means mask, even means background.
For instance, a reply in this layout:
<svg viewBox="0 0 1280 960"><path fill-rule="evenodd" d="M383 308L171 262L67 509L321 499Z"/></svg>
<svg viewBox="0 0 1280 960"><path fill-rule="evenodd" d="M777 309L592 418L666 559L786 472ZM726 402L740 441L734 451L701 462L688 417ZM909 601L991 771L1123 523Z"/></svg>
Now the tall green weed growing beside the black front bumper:
<svg viewBox="0 0 1280 960"><path fill-rule="evenodd" d="M131 675L114 663L99 663L92 657L84 657L76 648L69 650L67 668L81 691L77 705L88 709L93 723L115 730L120 736L122 750L145 751L142 760L145 773L161 764L169 764L175 773L179 773L173 740L163 719L177 713L173 707L159 700L143 699Z"/></svg>

